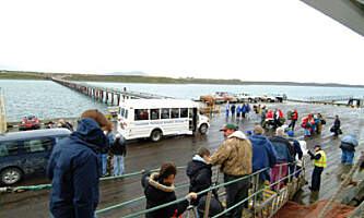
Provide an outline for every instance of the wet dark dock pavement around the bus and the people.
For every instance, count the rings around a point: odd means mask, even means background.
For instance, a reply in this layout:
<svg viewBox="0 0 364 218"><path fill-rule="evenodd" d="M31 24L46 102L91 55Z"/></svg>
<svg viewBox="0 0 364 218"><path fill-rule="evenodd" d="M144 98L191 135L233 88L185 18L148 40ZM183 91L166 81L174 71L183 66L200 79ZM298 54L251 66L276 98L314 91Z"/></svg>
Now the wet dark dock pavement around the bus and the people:
<svg viewBox="0 0 364 218"><path fill-rule="evenodd" d="M321 191L317 195L312 195L308 186L306 185L302 192L298 193L296 202L301 204L308 204L310 201L324 199L332 196L340 185L341 173L349 171L349 168L342 166L340 162L341 150L339 148L340 137L334 138L332 133L329 132L333 123L333 117L340 116L341 129L344 134L356 132L359 142L363 142L363 132L360 126L364 126L363 120L360 119L361 110L348 107L329 106L329 105L308 105L296 102L284 102L267 105L269 108L280 108L286 114L289 110L297 109L300 120L304 114L312 112L320 112L327 121L324 125L321 135L316 135L313 138L307 138L307 146L313 150L314 145L320 144L328 156L328 167L322 172ZM223 108L223 107L222 107ZM226 122L236 122L240 130L248 131L255 126L254 114L250 119L226 119L224 113L213 114L211 119L211 128L207 135L196 136L175 136L163 138L158 143L152 143L146 140L141 140L128 144L128 155L125 160L126 173L137 172L141 169L155 169L164 161L174 161L176 166L186 166L191 159L193 153L201 146L215 150L223 142L222 133L219 129ZM303 140L303 129L298 122L295 128L295 135L297 140ZM272 131L267 133L272 134ZM363 150L362 145L359 150ZM355 160L359 158L356 153ZM310 181L313 165L308 157L306 157L306 179ZM19 185L43 184L49 181L40 175L28 178ZM176 177L176 186L188 183L185 170L179 170ZM143 191L140 184L140 175L102 181L99 185L99 204L97 209L109 207L143 196ZM178 196L187 194L188 187L178 190ZM122 217L127 214L136 213L144 208L145 201L130 204L125 207L116 208L107 213L98 214L98 217ZM7 193L0 194L0 217L27 217L39 218L49 217L49 190L27 191L22 193Z"/></svg>

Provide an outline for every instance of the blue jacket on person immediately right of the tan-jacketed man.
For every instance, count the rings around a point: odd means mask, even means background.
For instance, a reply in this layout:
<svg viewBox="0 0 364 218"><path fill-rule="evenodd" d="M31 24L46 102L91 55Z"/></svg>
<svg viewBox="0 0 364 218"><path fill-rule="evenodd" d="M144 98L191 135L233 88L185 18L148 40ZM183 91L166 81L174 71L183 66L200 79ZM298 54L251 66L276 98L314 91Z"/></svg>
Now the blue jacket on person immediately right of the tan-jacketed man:
<svg viewBox="0 0 364 218"><path fill-rule="evenodd" d="M253 171L263 168L273 168L277 164L277 153L273 145L263 135L251 135L253 144ZM270 181L270 169L259 173L261 181Z"/></svg>

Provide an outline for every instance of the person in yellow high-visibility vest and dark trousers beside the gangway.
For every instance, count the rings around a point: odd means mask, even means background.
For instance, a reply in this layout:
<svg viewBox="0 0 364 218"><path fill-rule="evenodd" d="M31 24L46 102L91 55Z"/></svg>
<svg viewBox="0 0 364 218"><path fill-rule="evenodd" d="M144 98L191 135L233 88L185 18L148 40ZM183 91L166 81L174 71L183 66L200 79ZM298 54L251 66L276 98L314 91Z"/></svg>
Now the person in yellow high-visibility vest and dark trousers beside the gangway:
<svg viewBox="0 0 364 218"><path fill-rule="evenodd" d="M309 186L309 190L318 192L320 190L321 173L324 171L324 168L327 167L327 158L320 145L315 145L315 155L310 150L308 150L308 155L310 156L310 159L313 160L313 164L315 166L312 177L312 185Z"/></svg>

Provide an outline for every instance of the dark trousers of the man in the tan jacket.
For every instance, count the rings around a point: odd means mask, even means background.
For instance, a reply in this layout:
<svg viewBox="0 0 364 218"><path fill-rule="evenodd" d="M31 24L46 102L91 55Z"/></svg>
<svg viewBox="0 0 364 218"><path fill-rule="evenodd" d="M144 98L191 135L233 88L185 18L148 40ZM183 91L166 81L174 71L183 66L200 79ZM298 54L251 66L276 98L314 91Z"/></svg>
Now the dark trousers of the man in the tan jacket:
<svg viewBox="0 0 364 218"><path fill-rule="evenodd" d="M233 177L230 174L224 174L224 183L239 179L242 177ZM237 203L242 202L243 199L248 197L248 189L249 189L249 180L240 180L238 182L225 185L226 191L226 208L230 208ZM230 218L240 218L242 211L244 206L247 207L248 201L239 206L235 207L234 209L226 213L226 217Z"/></svg>

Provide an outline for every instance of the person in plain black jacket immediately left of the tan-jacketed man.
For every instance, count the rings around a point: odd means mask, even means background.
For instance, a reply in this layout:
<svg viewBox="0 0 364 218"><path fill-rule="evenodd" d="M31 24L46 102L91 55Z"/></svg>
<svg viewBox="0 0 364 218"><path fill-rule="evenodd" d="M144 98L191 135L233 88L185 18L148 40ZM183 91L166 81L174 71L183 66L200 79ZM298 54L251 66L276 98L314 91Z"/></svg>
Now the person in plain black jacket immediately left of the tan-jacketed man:
<svg viewBox="0 0 364 218"><path fill-rule="evenodd" d="M197 150L197 155L193 156L192 160L187 164L186 174L189 178L189 192L201 192L209 189L212 184L211 177L212 170L211 165L208 164L210 150L206 147L200 147ZM197 199L191 201L191 205L197 205L199 199L208 193L198 196Z"/></svg>

